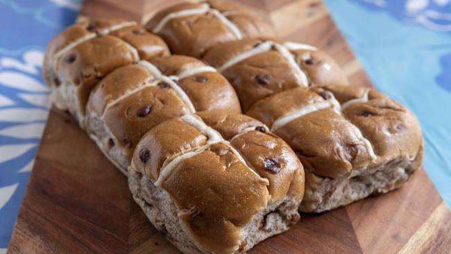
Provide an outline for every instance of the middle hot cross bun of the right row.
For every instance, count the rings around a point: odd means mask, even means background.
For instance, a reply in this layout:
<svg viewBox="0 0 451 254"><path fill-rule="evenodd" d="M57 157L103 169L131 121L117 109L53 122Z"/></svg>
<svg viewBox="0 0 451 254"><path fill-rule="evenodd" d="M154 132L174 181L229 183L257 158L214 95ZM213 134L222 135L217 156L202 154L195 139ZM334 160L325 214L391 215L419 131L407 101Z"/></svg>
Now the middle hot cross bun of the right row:
<svg viewBox="0 0 451 254"><path fill-rule="evenodd" d="M241 106L272 94L309 85L347 85L339 65L325 52L305 44L247 38L216 45L203 57L235 87Z"/></svg>

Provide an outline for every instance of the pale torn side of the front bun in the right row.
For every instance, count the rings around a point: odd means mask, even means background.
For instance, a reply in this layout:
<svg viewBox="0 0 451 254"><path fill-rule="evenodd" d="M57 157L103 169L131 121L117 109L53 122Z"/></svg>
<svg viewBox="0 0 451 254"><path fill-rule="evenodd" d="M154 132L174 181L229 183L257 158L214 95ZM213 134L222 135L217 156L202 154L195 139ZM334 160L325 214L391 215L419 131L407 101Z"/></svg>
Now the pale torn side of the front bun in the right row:
<svg viewBox="0 0 451 254"><path fill-rule="evenodd" d="M371 169L355 169L339 178L323 178L305 171L305 198L300 212L324 212L367 196L384 194L402 187L421 166L423 144L416 158L397 158Z"/></svg>

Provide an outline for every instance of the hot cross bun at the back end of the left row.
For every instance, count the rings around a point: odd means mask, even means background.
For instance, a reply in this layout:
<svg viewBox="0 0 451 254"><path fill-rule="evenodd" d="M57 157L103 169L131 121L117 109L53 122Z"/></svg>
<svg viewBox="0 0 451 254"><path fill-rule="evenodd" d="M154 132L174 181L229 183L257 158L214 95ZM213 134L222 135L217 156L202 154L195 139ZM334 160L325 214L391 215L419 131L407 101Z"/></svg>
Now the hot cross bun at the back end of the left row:
<svg viewBox="0 0 451 254"><path fill-rule="evenodd" d="M62 79L80 87L78 97L84 111L92 87L103 76L156 56L169 56L169 49L142 26L122 19L92 19L70 26L51 40L44 57L44 78L54 87Z"/></svg>

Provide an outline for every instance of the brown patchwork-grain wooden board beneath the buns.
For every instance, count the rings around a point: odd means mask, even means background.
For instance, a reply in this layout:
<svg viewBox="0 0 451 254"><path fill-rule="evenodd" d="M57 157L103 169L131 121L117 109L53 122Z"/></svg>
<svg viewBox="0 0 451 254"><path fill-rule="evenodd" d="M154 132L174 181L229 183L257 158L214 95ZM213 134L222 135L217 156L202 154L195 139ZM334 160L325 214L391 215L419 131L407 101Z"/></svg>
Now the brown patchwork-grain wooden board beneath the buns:
<svg viewBox="0 0 451 254"><path fill-rule="evenodd" d="M144 22L173 0L85 0L87 17ZM238 1L237 1L238 2ZM319 0L244 0L280 36L330 53L371 86ZM305 215L249 253L450 253L451 213L420 169L395 192ZM147 221L127 181L67 113L51 110L8 253L178 253Z"/></svg>

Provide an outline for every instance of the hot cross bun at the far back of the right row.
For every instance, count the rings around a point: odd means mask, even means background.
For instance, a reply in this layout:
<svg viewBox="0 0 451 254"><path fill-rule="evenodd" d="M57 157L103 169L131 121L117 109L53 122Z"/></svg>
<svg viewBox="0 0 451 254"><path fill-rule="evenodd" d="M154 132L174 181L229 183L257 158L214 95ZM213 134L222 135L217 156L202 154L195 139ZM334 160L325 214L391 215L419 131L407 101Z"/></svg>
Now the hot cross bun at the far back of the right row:
<svg viewBox="0 0 451 254"><path fill-rule="evenodd" d="M178 3L158 12L146 28L160 35L172 53L196 58L221 42L273 35L269 24L230 1Z"/></svg>

